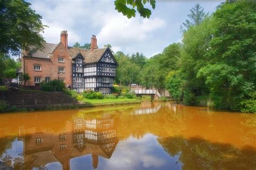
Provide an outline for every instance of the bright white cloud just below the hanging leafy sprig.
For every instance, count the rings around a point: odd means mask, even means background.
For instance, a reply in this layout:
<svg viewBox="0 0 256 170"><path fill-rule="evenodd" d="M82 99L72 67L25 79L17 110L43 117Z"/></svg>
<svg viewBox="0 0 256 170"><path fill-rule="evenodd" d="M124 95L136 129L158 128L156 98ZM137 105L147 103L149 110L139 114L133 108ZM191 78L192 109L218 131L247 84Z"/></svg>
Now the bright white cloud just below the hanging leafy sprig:
<svg viewBox="0 0 256 170"><path fill-rule="evenodd" d="M127 19L122 15L106 15L107 22L98 33L98 39L102 44L111 44L113 46L129 46L151 37L151 32L161 29L165 26L163 19Z"/></svg>

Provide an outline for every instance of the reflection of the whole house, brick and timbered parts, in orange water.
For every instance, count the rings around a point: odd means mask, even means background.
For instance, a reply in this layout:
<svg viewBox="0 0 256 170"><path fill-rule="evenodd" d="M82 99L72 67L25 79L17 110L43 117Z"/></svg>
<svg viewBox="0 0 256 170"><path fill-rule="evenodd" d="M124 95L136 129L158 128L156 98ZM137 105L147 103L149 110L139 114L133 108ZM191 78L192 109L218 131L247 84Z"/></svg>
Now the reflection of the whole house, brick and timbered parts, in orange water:
<svg viewBox="0 0 256 170"><path fill-rule="evenodd" d="M69 169L71 158L86 154L91 154L92 167L97 168L98 156L109 159L118 143L110 114L75 118L59 132L21 127L19 136L23 140L24 162L32 162L31 168L57 161L63 169Z"/></svg>

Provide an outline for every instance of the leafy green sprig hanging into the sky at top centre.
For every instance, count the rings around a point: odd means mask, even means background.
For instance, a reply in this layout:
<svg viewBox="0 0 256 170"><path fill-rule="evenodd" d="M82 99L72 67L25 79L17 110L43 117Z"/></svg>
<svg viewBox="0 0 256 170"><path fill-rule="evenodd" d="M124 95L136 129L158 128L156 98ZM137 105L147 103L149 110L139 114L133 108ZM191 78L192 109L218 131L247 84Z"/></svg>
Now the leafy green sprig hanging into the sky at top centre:
<svg viewBox="0 0 256 170"><path fill-rule="evenodd" d="M156 0L143 0L143 1L133 1L133 0L116 0L114 1L114 5L116 6L116 10L118 12L122 12L124 16L127 18L135 17L136 10L140 13L141 17L149 18L151 15L151 10L144 8L144 5L148 4L152 7L152 9L156 8Z"/></svg>

